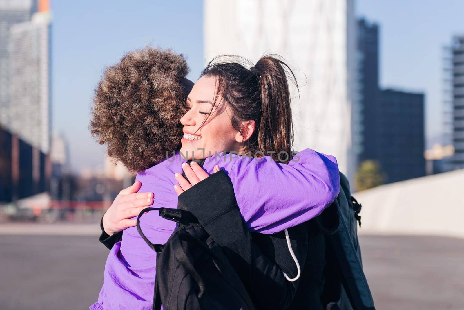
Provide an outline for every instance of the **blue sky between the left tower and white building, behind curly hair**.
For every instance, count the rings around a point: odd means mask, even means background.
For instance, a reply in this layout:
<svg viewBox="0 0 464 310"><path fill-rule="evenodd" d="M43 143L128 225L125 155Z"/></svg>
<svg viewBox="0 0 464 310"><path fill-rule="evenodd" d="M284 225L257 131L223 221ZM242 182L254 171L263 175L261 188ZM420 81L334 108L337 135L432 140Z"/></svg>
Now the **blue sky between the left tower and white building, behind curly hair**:
<svg viewBox="0 0 464 310"><path fill-rule="evenodd" d="M103 164L90 136L93 90L105 66L147 44L187 56L189 78L203 66L202 1L52 1L52 127L69 141L71 167Z"/></svg>

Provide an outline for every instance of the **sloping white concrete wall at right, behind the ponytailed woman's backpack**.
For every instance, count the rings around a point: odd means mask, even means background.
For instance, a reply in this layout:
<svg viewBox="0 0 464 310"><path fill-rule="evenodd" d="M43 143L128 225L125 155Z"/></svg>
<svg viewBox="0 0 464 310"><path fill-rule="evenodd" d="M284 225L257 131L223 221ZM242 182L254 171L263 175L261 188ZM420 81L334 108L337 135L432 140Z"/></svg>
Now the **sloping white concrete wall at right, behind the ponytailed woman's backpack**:
<svg viewBox="0 0 464 310"><path fill-rule="evenodd" d="M362 204L360 234L464 238L464 169L353 194Z"/></svg>

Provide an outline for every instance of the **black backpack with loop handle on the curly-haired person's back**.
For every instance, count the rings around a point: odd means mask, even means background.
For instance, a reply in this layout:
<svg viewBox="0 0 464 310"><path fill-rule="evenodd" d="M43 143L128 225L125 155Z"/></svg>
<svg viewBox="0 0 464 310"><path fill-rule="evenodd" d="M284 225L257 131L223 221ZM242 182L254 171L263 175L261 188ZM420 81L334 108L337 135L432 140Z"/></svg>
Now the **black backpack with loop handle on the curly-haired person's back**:
<svg viewBox="0 0 464 310"><path fill-rule="evenodd" d="M152 244L140 228L146 211L159 211L175 221L177 229L166 244ZM156 251L154 310L253 310L254 306L221 247L188 211L146 208L137 218L137 230Z"/></svg>

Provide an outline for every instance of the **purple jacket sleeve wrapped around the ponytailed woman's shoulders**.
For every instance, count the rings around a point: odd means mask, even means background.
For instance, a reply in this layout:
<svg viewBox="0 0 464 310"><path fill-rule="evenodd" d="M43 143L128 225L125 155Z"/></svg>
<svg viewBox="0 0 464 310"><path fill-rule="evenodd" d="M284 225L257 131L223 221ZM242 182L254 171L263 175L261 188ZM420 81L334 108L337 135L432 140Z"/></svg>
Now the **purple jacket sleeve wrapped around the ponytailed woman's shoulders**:
<svg viewBox="0 0 464 310"><path fill-rule="evenodd" d="M288 165L270 156L216 154L203 167L211 173L216 164L229 174L251 231L273 234L306 222L321 214L340 191L335 157L311 149L296 153Z"/></svg>

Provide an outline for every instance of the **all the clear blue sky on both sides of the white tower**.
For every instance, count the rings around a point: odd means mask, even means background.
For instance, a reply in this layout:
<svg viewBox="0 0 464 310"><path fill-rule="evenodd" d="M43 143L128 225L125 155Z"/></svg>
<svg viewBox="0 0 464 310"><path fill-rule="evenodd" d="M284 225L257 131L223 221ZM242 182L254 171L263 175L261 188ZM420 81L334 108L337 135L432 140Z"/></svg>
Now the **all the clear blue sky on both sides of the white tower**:
<svg viewBox="0 0 464 310"><path fill-rule="evenodd" d="M440 131L441 47L464 33L458 0L358 0L356 14L380 25L380 84L425 92L427 134ZM445 5L444 5L445 4ZM70 145L75 170L103 164L88 129L103 68L152 44L187 55L190 79L203 59L201 0L52 1L52 126Z"/></svg>

